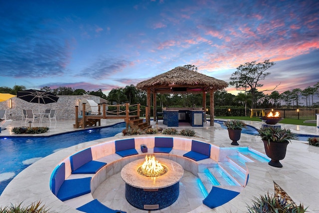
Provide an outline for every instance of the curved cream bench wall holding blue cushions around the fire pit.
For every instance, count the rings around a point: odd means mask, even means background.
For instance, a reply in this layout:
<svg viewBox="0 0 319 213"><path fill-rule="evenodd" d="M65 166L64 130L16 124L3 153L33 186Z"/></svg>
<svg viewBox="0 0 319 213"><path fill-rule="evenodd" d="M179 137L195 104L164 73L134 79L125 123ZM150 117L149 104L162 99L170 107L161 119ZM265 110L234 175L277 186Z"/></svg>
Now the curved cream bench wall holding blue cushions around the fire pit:
<svg viewBox="0 0 319 213"><path fill-rule="evenodd" d="M217 164L218 161L226 161L227 155L232 152L232 150L227 150L227 153L220 152L220 148L211 144L210 149L210 156L208 159L204 159L201 161L194 161L189 158L183 157L184 154L192 150L192 139L188 138L179 138L179 137L161 137L162 139L167 138L170 139L173 138L173 149L167 154L167 153L154 153L153 149L155 146L155 138L156 137L135 137L134 143L135 143L135 149L138 151L138 155L132 155L128 157L121 157L120 155L116 154L116 141L107 141L101 144L97 144L91 147L88 147L86 149L83 149L77 153L74 153L73 155L77 155L80 152L83 152L84 150L90 149L92 154L92 160L93 161L99 161L106 163L104 167L102 167L100 170L98 170L95 174L92 174L92 181L91 181L91 194L94 193L94 191L99 187L101 183L103 183L107 178L121 172L122 168L135 160L145 158L148 154L154 154L156 157L160 158L168 158L170 160L173 160L177 163L179 163L185 170L191 172L195 176L197 176L198 172L203 172L204 169L207 167L214 167L215 164ZM123 140L127 140L130 138L124 138ZM129 141L129 140L128 140ZM146 145L148 147L148 152L143 153L141 150L141 145ZM235 153L236 150L234 149L233 152ZM72 175L72 167L71 167L71 160L72 156L68 156L65 158L60 164L55 168L55 170L63 164L63 169L65 167L65 180L69 178L69 176ZM55 171L54 170L54 171ZM50 188L52 190L52 178L54 177L54 171L51 175L51 183ZM73 175L74 178L74 175ZM71 178L72 179L72 178ZM57 189L54 187L52 192L55 192ZM55 192L54 194L56 194Z"/></svg>

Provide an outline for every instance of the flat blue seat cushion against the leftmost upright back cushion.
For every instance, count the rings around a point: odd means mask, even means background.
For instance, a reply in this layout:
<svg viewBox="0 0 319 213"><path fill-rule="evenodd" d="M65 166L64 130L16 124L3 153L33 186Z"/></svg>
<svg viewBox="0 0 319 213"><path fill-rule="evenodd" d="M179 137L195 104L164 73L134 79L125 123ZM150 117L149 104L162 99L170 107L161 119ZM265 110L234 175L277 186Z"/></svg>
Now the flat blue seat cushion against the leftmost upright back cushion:
<svg viewBox="0 0 319 213"><path fill-rule="evenodd" d="M57 196L61 201L79 197L91 192L91 177L65 180L61 185Z"/></svg>

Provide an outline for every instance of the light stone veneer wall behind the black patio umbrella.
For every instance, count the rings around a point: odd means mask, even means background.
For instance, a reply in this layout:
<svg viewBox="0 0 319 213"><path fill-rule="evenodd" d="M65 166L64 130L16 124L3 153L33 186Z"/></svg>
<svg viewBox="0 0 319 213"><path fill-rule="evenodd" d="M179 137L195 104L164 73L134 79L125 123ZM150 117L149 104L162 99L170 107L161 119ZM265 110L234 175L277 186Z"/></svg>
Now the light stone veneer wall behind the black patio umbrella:
<svg viewBox="0 0 319 213"><path fill-rule="evenodd" d="M94 95L58 95L56 103L40 104L40 112L45 109L55 109L57 120L75 120L75 106L79 105L79 99L93 100L96 103L107 102L105 99ZM29 103L17 97L11 98L12 108L9 108L9 100L0 102L0 109L6 109L6 119L21 120L22 109L38 111L39 104Z"/></svg>

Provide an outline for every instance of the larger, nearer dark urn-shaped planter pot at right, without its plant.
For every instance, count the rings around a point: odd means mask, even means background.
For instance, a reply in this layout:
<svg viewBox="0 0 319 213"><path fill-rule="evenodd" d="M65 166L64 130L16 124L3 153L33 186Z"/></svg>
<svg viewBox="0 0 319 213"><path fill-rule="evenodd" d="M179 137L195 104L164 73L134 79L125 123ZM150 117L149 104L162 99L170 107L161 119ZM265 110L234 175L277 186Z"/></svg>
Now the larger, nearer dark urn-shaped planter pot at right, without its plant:
<svg viewBox="0 0 319 213"><path fill-rule="evenodd" d="M268 144L267 140L263 140L266 155L271 158L268 162L270 166L282 168L283 165L279 162L283 160L286 156L287 145L289 142L270 142Z"/></svg>

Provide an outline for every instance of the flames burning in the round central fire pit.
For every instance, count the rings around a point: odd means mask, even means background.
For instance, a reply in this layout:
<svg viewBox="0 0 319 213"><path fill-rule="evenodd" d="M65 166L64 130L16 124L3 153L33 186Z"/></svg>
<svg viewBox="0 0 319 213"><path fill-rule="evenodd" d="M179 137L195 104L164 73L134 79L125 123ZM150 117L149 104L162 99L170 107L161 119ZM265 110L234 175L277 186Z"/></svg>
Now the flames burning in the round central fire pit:
<svg viewBox="0 0 319 213"><path fill-rule="evenodd" d="M159 177L167 172L167 167L160 164L155 156L145 156L144 163L138 168L138 173L146 177Z"/></svg>

